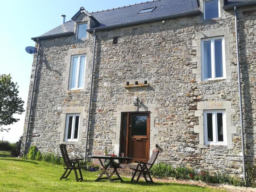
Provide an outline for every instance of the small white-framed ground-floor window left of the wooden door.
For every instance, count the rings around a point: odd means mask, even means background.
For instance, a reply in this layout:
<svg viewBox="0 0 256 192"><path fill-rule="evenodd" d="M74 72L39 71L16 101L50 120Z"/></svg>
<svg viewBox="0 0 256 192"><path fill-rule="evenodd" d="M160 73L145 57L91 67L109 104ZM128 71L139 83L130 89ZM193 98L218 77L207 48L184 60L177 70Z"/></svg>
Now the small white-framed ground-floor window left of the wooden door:
<svg viewBox="0 0 256 192"><path fill-rule="evenodd" d="M80 114L67 114L65 141L78 141Z"/></svg>

